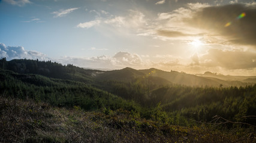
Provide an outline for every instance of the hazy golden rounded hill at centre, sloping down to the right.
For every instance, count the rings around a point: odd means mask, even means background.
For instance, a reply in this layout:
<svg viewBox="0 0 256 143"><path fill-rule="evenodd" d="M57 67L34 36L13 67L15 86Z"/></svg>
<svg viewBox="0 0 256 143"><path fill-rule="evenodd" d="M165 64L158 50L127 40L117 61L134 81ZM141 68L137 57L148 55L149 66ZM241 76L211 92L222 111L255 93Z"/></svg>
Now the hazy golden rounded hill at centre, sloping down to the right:
<svg viewBox="0 0 256 143"><path fill-rule="evenodd" d="M188 86L219 86L219 82L204 77L198 77L192 74L179 73L177 71L162 71L158 69L135 70L129 67L122 70L106 71L98 74L100 80L116 80L122 82L132 82L135 79L153 81L156 84L176 83Z"/></svg>

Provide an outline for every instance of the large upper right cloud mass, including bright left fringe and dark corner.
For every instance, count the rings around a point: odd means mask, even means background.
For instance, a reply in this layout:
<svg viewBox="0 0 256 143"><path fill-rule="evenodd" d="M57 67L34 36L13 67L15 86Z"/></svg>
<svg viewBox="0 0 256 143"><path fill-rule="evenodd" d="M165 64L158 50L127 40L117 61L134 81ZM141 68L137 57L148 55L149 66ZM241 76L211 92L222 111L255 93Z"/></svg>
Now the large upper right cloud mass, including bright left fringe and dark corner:
<svg viewBox="0 0 256 143"><path fill-rule="evenodd" d="M236 1L234 1L236 2ZM240 14L244 17L240 17ZM210 44L250 45L256 48L256 3L210 6L189 3L167 13L158 13L150 31L138 34L163 41L203 38ZM149 22L152 24L152 22ZM229 26L225 25L230 23ZM185 41L186 41L185 40Z"/></svg>

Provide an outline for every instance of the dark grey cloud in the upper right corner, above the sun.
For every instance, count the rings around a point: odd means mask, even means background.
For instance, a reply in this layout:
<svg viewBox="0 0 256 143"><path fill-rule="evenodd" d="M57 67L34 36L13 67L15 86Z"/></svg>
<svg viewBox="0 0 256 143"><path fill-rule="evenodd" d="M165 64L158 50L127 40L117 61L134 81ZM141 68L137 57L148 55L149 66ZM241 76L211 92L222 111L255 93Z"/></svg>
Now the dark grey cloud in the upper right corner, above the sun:
<svg viewBox="0 0 256 143"><path fill-rule="evenodd" d="M237 17L245 13L240 19ZM186 18L190 26L209 30L210 34L219 34L228 41L242 45L256 45L256 5L231 4L206 7L198 10L192 18ZM225 24L231 22L230 26Z"/></svg>

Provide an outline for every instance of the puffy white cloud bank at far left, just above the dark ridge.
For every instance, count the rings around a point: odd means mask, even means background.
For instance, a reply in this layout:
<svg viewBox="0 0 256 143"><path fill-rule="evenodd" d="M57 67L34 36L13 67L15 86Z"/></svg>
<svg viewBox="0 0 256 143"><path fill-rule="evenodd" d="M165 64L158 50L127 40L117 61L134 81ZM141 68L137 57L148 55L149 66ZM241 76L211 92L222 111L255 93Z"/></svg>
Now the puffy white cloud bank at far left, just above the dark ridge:
<svg viewBox="0 0 256 143"><path fill-rule="evenodd" d="M5 46L0 43L0 57L6 57L7 60L28 58L28 59L47 59L46 55L37 51L26 51L23 46Z"/></svg>

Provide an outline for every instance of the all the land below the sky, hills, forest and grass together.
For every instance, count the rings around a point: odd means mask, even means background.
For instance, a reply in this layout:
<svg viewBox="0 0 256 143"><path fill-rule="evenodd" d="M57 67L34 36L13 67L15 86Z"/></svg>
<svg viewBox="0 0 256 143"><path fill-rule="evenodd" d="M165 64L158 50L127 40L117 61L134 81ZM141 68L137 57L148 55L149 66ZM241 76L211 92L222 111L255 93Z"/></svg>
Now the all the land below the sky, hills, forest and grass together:
<svg viewBox="0 0 256 143"><path fill-rule="evenodd" d="M255 142L256 85L212 78L2 58L0 142Z"/></svg>

